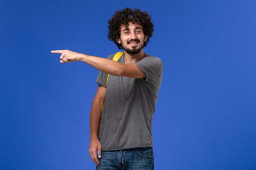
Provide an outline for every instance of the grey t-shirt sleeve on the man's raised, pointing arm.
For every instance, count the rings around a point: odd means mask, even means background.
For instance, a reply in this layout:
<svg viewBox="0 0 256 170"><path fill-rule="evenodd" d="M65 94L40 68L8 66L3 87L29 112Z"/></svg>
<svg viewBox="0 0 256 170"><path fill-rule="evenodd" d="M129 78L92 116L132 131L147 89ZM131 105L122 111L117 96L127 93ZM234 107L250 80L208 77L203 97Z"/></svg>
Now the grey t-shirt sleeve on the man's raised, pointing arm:
<svg viewBox="0 0 256 170"><path fill-rule="evenodd" d="M134 64L136 64L146 75L144 81L149 84L155 84L157 79L162 75L163 63L158 57L149 55L148 57L145 57Z"/></svg>

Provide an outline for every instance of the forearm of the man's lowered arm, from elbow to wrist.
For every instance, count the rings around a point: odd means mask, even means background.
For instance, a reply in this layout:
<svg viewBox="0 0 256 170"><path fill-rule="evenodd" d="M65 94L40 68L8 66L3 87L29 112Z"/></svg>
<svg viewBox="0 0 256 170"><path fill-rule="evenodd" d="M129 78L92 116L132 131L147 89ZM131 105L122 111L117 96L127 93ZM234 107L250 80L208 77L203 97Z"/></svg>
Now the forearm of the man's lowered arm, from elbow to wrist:
<svg viewBox="0 0 256 170"><path fill-rule="evenodd" d="M102 110L103 101L94 98L90 111L90 139L98 139Z"/></svg>

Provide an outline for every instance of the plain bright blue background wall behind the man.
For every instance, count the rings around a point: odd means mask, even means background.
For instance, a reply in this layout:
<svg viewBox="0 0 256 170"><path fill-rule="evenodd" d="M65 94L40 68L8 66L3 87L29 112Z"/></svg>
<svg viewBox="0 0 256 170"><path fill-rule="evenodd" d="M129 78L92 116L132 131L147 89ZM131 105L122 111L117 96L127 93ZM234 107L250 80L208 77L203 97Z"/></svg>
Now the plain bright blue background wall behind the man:
<svg viewBox="0 0 256 170"><path fill-rule="evenodd" d="M116 9L153 15L164 74L156 170L256 169L256 1L0 1L0 169L91 170L98 71L51 50L107 57Z"/></svg>

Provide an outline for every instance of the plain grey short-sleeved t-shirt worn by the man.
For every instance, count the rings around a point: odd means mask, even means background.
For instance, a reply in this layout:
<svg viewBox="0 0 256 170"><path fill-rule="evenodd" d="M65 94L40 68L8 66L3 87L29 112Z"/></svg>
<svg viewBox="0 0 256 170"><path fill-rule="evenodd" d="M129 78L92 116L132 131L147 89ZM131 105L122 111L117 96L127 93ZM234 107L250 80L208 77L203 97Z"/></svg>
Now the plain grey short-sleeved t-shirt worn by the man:
<svg viewBox="0 0 256 170"><path fill-rule="evenodd" d="M124 63L124 55L118 62ZM107 88L99 127L102 150L153 147L151 127L163 64L152 55L134 64L146 74L144 79L109 75L106 87L108 74L97 77L96 82Z"/></svg>

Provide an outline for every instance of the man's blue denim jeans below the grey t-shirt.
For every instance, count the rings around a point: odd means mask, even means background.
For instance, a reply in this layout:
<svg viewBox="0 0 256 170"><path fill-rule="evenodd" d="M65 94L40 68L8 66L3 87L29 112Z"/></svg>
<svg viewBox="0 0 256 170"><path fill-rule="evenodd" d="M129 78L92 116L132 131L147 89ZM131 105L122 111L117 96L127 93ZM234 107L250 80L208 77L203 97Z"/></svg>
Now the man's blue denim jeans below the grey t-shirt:
<svg viewBox="0 0 256 170"><path fill-rule="evenodd" d="M96 170L154 170L152 147L102 151Z"/></svg>

